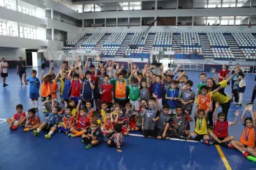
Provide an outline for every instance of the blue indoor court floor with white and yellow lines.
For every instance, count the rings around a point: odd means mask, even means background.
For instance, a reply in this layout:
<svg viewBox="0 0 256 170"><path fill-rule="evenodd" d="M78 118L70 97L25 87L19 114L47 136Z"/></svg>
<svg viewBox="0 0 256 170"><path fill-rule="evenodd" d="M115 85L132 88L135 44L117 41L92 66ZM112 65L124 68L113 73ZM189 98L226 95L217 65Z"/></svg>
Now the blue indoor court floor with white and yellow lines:
<svg viewBox="0 0 256 170"><path fill-rule="evenodd" d="M39 71L39 75L40 68L34 69ZM31 68L27 69L28 76L30 72ZM196 90L196 84L200 82L200 72L187 72L187 74L189 80L194 82L193 89ZM44 137L45 132L34 137L31 131L24 133L22 128L10 131L5 120L15 114L17 104L23 104L24 112L27 112L31 107L31 101L29 101L29 85L20 85L15 69L10 69L9 75L7 77L9 86L3 88L2 82L0 83L0 170L256 169L256 163L246 160L236 150L223 147L217 150L214 145L207 146L198 142L145 139L138 132L125 137L123 152L118 153L116 148L108 148L105 143L86 150L80 138L70 139L58 132L48 140ZM207 75L213 77L209 72ZM244 105L250 101L255 85L255 75L246 74L245 79ZM230 86L225 89L229 95L230 91ZM236 109L240 110L241 116L244 107L235 107L231 104L227 120L234 120ZM42 108L39 109L37 115L40 120L43 120ZM191 123L192 130L194 125L195 123ZM243 126L239 117L237 125L229 129L229 135L234 135L238 140L242 131Z"/></svg>

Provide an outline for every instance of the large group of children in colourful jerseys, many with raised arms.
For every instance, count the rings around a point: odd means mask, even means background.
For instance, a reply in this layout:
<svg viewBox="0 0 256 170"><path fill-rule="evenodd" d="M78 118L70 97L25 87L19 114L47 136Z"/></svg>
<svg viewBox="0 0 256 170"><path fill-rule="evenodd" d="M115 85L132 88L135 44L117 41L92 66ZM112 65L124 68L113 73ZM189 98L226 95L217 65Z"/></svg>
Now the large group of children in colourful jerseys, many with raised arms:
<svg viewBox="0 0 256 170"><path fill-rule="evenodd" d="M157 67L147 64L142 73L138 72L138 66L132 61L128 61L128 72L124 65L119 69L118 63L112 61L108 61L105 66L101 64L100 67L88 66L88 63L89 60L86 61L85 74L80 57L78 63L73 63L69 70L63 67L59 69L57 76L51 69L45 76L42 72L42 83L36 77L37 72L32 70L32 77L26 81L30 82L33 109L29 109L29 117L26 120L23 107L18 104L15 116L7 120L10 128L14 130L20 125L25 125L23 131L33 130L34 136L46 130L46 139L50 139L58 129L60 133L70 137L81 136L86 149L105 141L109 147L117 147L118 152L121 152L123 136L127 136L129 131L143 131L143 136L157 139L194 139L204 144L210 144L211 136L214 144L227 148L235 147L246 158L256 160L256 120L252 105L246 107L241 117L246 128L240 142L236 142L233 136L228 136L227 129L230 125L236 125L239 112L235 112L236 119L233 123L227 122L225 113L220 112L217 115L219 103L212 106L212 96L218 93L222 86L209 91L205 73L200 74L202 82L197 85L195 94L192 90L192 80L188 80L186 72L178 70L180 65L173 74L170 70L164 73L163 66L159 66L157 74ZM151 69L154 72L151 72ZM176 72L178 77L174 78ZM212 72L216 80L215 69L212 69ZM241 76L239 74L239 77ZM57 82L60 82L61 103L56 100L56 93L59 91ZM36 115L40 84L41 98L45 106L43 112L47 112L43 122L40 122ZM191 115L194 104L193 119ZM61 105L64 105L64 109L61 109ZM214 128L213 131L208 131L208 112L213 108ZM252 117L244 119L247 110L252 113ZM59 117L62 117L62 120L59 120ZM189 133L189 122L194 120L195 131Z"/></svg>

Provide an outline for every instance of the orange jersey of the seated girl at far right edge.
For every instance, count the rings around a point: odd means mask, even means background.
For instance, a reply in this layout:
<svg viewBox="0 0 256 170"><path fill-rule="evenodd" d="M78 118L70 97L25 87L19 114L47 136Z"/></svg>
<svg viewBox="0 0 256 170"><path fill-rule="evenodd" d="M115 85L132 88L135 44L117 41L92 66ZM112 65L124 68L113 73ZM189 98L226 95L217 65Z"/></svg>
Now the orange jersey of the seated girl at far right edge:
<svg viewBox="0 0 256 170"><path fill-rule="evenodd" d="M246 126L240 138L240 142L247 147L255 148L255 127L248 128Z"/></svg>

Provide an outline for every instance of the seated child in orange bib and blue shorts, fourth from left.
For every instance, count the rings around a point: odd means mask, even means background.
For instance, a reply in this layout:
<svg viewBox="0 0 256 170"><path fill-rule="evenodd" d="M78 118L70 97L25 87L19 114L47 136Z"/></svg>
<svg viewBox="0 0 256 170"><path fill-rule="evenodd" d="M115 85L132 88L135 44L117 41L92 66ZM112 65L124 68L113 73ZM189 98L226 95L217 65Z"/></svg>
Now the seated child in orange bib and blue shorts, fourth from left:
<svg viewBox="0 0 256 170"><path fill-rule="evenodd" d="M75 125L75 116L71 114L72 107L68 106L65 109L66 115L62 117L62 123L58 125L59 133L69 133L70 128Z"/></svg>

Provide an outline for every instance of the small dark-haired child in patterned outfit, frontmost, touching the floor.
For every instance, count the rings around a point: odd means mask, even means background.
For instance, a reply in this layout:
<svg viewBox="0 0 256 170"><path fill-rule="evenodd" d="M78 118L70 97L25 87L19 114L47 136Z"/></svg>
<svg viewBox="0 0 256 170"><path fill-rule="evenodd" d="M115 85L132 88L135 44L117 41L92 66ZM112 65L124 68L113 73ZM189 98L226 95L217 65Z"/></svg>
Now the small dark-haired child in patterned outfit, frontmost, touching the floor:
<svg viewBox="0 0 256 170"><path fill-rule="evenodd" d="M113 134L108 140L108 147L117 147L117 152L122 152L121 145L124 142L122 131L122 125L116 123L114 125L115 134Z"/></svg>

